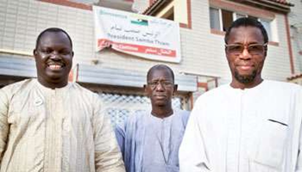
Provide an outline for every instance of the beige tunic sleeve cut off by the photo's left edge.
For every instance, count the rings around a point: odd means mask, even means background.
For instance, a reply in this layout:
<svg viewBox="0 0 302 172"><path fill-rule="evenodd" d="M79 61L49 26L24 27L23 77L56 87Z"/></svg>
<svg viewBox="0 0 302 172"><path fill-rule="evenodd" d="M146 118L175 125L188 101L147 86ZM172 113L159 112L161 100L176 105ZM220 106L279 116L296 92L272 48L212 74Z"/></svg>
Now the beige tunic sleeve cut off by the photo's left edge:
<svg viewBox="0 0 302 172"><path fill-rule="evenodd" d="M8 136L8 96L4 89L0 89L0 167L5 152Z"/></svg>

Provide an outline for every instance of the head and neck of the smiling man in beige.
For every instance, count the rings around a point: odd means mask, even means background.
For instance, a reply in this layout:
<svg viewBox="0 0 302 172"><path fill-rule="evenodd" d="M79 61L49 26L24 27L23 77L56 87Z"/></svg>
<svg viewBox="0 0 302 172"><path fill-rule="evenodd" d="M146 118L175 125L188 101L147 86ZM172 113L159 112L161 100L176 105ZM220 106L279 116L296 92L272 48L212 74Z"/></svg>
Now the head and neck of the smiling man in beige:
<svg viewBox="0 0 302 172"><path fill-rule="evenodd" d="M44 30L37 38L34 57L39 83L48 88L64 87L72 67L72 42L65 31Z"/></svg>

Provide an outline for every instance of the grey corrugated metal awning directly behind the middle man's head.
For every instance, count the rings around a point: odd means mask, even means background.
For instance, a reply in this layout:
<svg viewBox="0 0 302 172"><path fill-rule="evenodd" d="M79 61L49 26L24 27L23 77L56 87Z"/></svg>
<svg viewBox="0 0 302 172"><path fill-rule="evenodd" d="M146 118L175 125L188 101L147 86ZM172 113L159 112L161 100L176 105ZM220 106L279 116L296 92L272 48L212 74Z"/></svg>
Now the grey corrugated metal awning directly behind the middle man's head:
<svg viewBox="0 0 302 172"><path fill-rule="evenodd" d="M76 82L142 88L146 83L146 73L78 64ZM175 83L178 84L178 91L197 90L195 76L175 75Z"/></svg>

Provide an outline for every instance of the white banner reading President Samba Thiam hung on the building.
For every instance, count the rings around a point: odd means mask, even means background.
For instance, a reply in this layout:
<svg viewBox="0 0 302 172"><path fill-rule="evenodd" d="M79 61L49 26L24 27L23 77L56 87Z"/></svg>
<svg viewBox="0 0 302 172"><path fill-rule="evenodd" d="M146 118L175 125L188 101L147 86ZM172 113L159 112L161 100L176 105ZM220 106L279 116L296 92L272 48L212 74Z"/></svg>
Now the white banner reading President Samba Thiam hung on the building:
<svg viewBox="0 0 302 172"><path fill-rule="evenodd" d="M179 24L171 20L93 6L96 50L105 47L142 58L179 63Z"/></svg>

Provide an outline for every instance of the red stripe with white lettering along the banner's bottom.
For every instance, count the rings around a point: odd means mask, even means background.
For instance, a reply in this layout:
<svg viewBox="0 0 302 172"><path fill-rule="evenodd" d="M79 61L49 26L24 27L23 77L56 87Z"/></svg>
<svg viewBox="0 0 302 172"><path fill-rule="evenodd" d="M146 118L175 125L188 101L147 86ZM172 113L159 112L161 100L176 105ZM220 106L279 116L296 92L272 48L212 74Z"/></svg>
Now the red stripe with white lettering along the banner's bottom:
<svg viewBox="0 0 302 172"><path fill-rule="evenodd" d="M153 55L162 55L168 57L176 57L176 51L165 49L165 48L156 48L149 47L144 45L135 45L135 44L126 44L113 42L108 39L98 39L98 48L103 49L105 47L112 46L113 48L120 49L127 52L139 52L144 54L153 54Z"/></svg>

